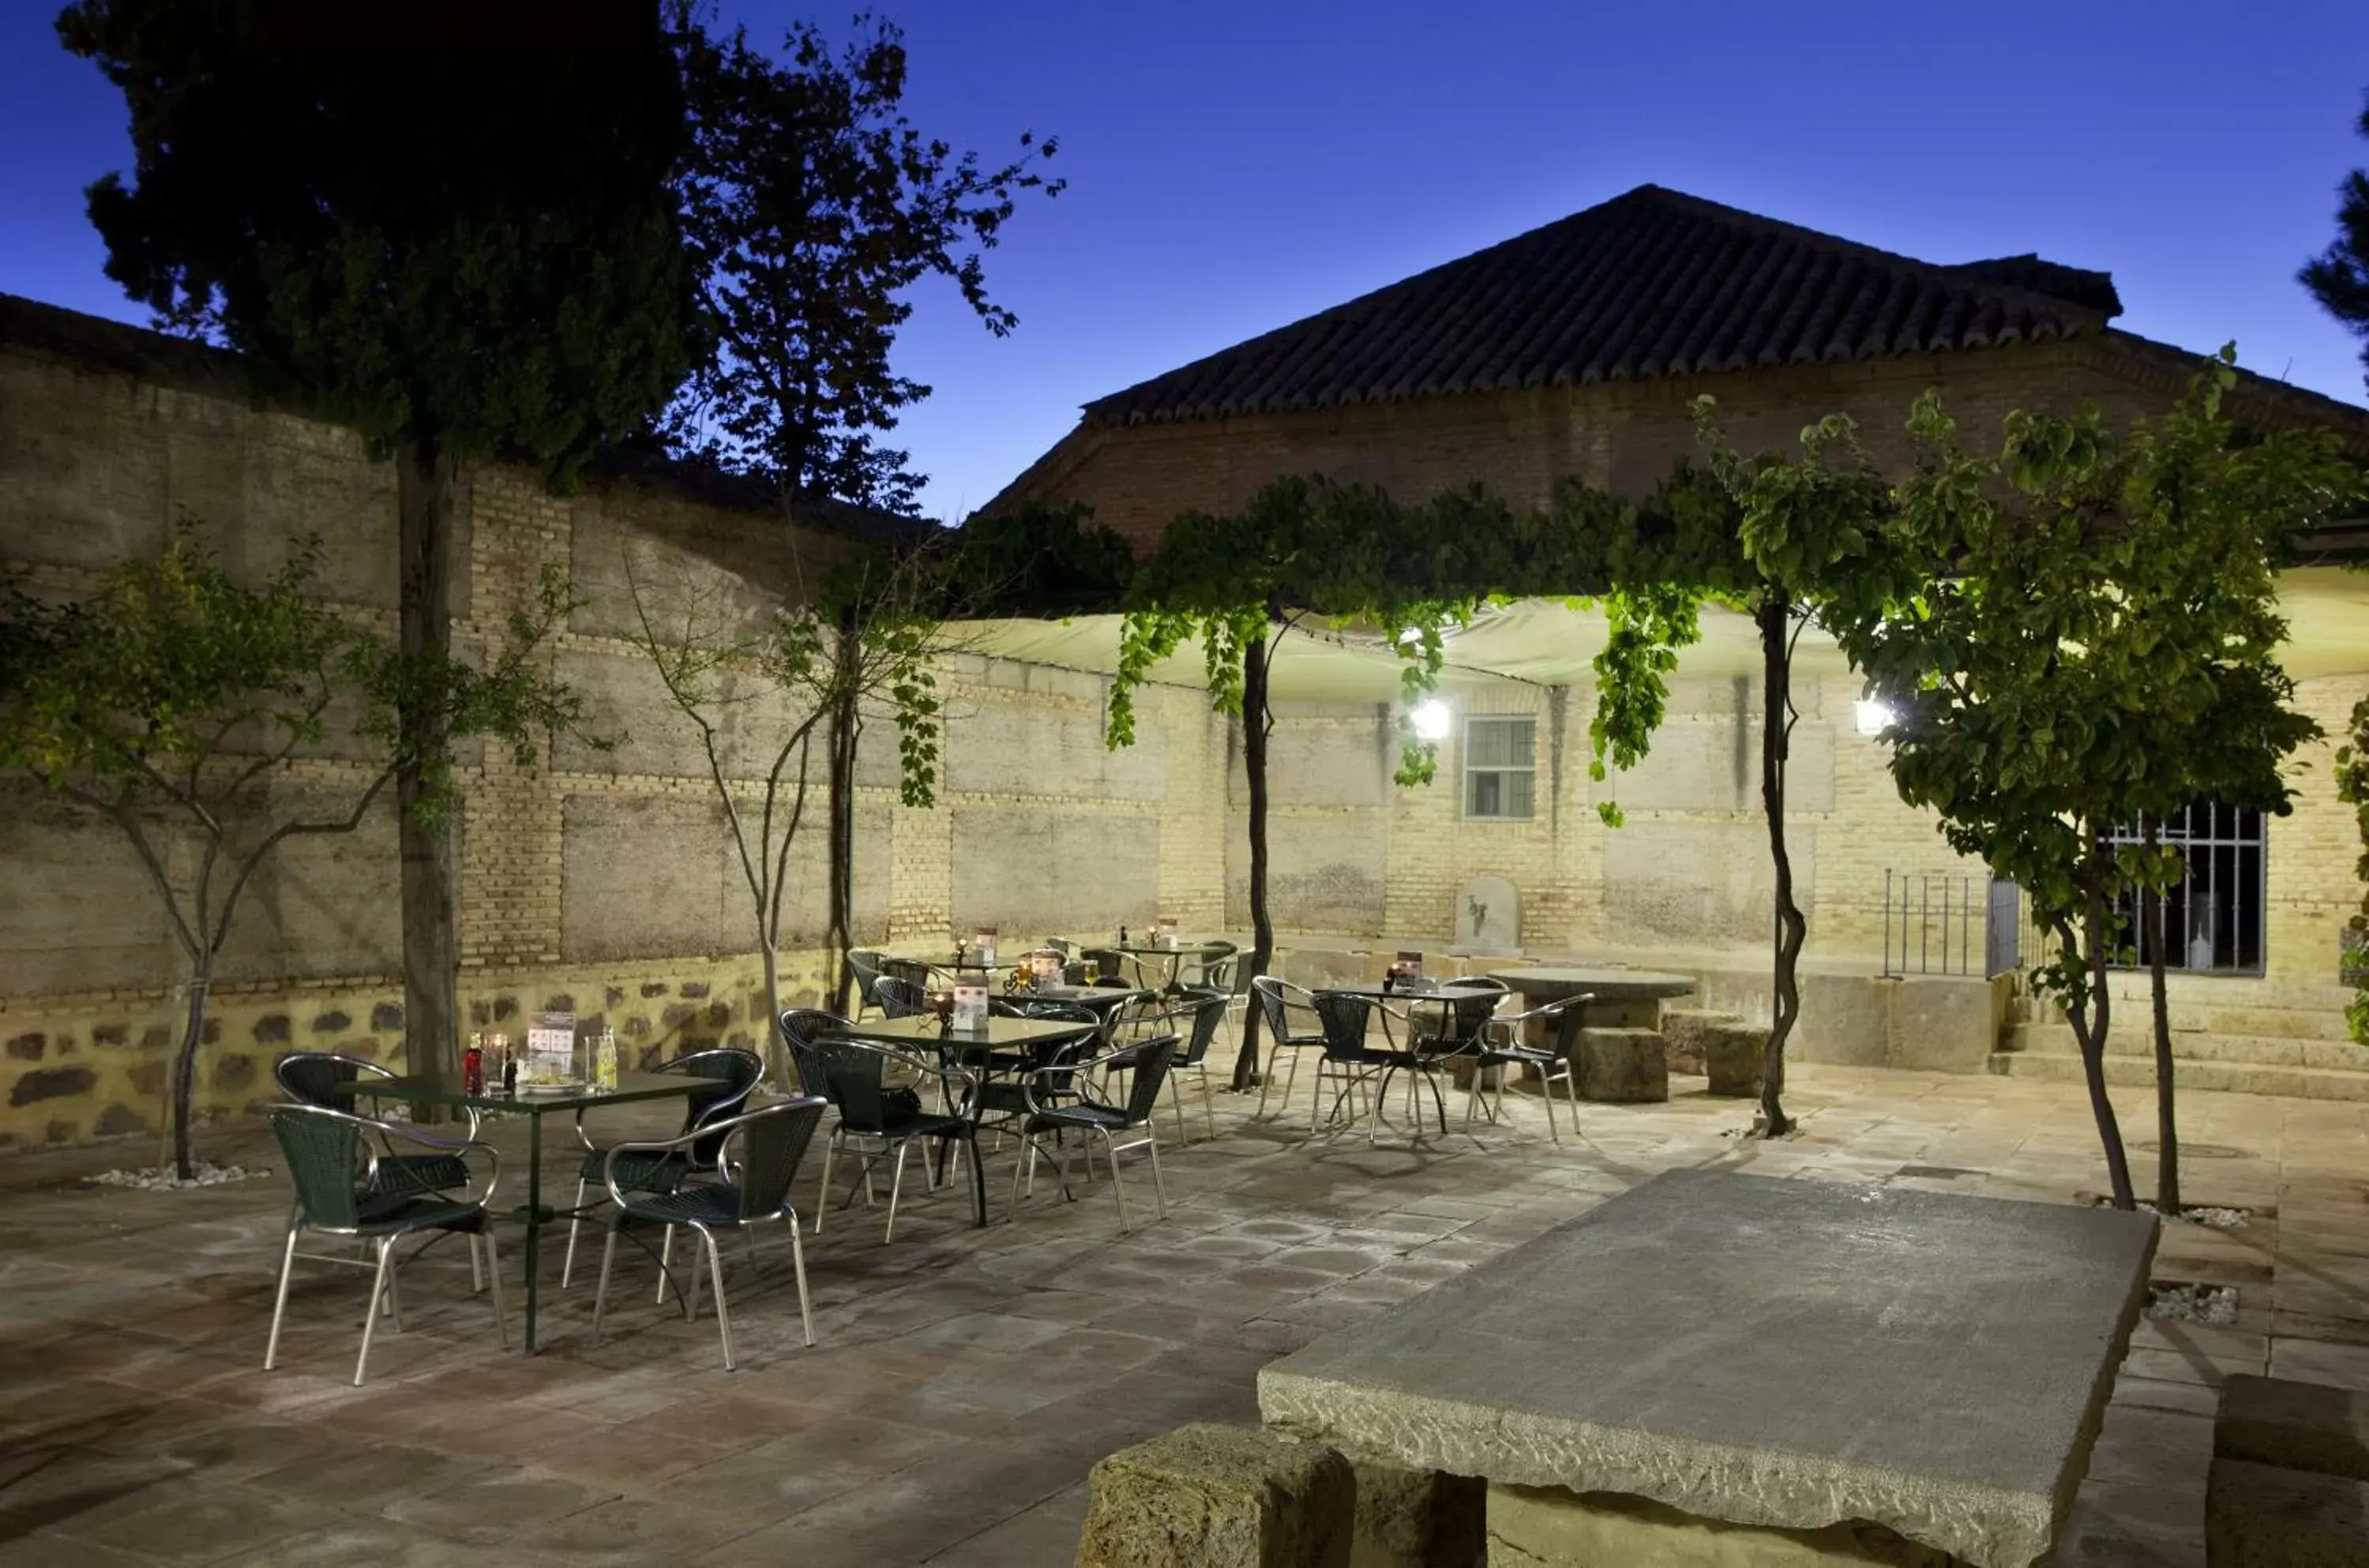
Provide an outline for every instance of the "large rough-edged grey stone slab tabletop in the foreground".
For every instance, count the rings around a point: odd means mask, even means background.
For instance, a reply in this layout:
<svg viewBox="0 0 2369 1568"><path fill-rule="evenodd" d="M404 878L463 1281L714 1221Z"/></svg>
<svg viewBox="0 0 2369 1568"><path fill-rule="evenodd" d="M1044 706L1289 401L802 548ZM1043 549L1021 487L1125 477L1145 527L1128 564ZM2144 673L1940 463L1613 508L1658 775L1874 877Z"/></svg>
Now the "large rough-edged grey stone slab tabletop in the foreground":
<svg viewBox="0 0 2369 1568"><path fill-rule="evenodd" d="M1561 1487L1867 1521L2025 1568L2080 1485L2153 1251L2151 1215L1665 1170L1272 1362L1258 1405L1483 1476L1492 1504Z"/></svg>

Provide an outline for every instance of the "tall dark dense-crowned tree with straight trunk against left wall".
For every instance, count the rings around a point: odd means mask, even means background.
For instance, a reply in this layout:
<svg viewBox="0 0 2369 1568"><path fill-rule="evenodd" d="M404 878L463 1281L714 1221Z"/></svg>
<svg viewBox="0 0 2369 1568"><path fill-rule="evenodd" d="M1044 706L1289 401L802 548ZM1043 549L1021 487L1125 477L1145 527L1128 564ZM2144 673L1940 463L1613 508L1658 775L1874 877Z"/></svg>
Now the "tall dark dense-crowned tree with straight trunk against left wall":
<svg viewBox="0 0 2369 1568"><path fill-rule="evenodd" d="M133 175L90 187L107 272L256 388L396 462L400 654L452 647L464 457L564 483L689 362L668 175L687 121L656 0L76 0L66 47L130 107ZM422 772L431 680L398 689L407 1054L455 1045L452 836Z"/></svg>

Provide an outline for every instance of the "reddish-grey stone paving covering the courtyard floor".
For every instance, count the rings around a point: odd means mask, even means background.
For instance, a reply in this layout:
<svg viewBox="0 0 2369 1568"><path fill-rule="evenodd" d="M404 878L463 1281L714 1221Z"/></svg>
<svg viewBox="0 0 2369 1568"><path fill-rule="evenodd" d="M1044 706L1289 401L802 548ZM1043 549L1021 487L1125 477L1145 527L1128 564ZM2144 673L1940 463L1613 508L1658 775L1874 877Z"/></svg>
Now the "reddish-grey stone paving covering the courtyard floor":
<svg viewBox="0 0 2369 1568"><path fill-rule="evenodd" d="M90 1187L140 1144L0 1161L0 1568L557 1568L943 1563L1057 1568L1085 1473L1182 1421L1256 1421L1258 1367L1350 1329L1673 1165L2078 1201L2101 1187L2078 1085L1793 1068L1805 1132L1736 1137L1748 1104L1675 1080L1665 1106L1585 1106L1582 1137L1511 1120L1424 1149L1305 1139L1296 1113L1166 1156L1170 1215L1116 1234L1104 1182L1061 1203L1040 1168L1012 1225L962 1189L834 1208L808 1236L815 1348L798 1343L779 1227L730 1248L741 1371L715 1326L654 1305L618 1253L606 1336L590 1279L545 1251L540 1357L495 1345L457 1246L403 1272L403 1334L351 1388L365 1277L298 1272L280 1371L261 1371L282 1182L190 1194ZM1689 1092L1694 1090L1694 1092ZM2123 1092L2130 1137L2153 1127ZM1272 1111L1275 1106L1270 1106ZM2203 1563L2213 1386L2270 1371L2369 1388L2369 1106L2191 1092L2187 1196L2258 1210L2175 1225L2161 1279L2234 1284L2232 1326L2144 1322L2056 1561ZM604 1132L656 1127L621 1108ZM1199 1130L1199 1118L1192 1123ZM514 1125L493 1139L516 1156ZM277 1165L261 1125L211 1158ZM2151 1161L2134 1149L2142 1191ZM798 1199L813 1210L810 1163ZM912 1175L912 1172L907 1172ZM1149 1170L1130 1163L1149 1217ZM988 1161L1002 1217L1009 1149ZM561 1196L573 1161L552 1151ZM524 1189L505 1170L505 1196ZM516 1281L519 1248L505 1248ZM1980 1279L1969 1291L1988 1289ZM519 1296L512 1291L512 1338ZM1736 1303L1748 1310L1748 1303Z"/></svg>

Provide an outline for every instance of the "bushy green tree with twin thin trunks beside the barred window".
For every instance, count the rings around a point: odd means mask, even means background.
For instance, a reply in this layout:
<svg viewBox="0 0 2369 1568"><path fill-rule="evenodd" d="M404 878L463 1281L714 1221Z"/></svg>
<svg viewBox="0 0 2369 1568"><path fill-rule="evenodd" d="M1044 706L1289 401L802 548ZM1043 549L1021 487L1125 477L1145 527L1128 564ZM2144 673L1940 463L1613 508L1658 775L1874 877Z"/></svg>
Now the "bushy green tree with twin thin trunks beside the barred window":
<svg viewBox="0 0 2369 1568"><path fill-rule="evenodd" d="M2130 1170L2104 1049L2106 969L2127 952L2116 902L2156 921L2179 876L2156 843L2196 798L2286 810L2281 763L2317 727L2286 703L2272 564L2345 493L2319 431L2265 438L2220 417L2232 351L2161 422L2116 438L2097 410L2016 412L1997 455L1969 455L1938 396L1909 417L1914 474L1886 483L1848 419L1765 457L1746 481L1746 552L1800 585L1895 713L1893 777L2033 900L2056 959L2035 978L2082 1049L2116 1203ZM2142 824L2139 846L2116 829ZM2172 1059L2158 973L2158 1203L2179 1206Z"/></svg>

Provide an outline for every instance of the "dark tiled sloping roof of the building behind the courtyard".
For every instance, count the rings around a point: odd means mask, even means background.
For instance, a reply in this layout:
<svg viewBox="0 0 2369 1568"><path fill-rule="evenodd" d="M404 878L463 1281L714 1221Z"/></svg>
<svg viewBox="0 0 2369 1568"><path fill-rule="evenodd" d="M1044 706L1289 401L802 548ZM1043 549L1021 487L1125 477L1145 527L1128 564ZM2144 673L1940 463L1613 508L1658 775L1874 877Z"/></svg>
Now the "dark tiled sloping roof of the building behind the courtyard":
<svg viewBox="0 0 2369 1568"><path fill-rule="evenodd" d="M1222 419L2094 334L2113 279L2037 256L1933 265L1639 185L1085 405Z"/></svg>

